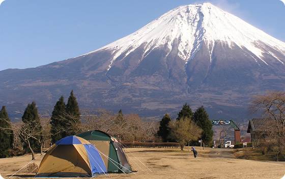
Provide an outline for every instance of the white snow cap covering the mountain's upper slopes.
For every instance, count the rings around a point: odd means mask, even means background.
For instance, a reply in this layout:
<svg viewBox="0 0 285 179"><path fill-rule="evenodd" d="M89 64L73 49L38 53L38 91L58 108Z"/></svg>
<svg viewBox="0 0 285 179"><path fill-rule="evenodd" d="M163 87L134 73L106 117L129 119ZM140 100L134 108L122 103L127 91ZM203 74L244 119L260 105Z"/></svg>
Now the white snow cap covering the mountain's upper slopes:
<svg viewBox="0 0 285 179"><path fill-rule="evenodd" d="M178 47L173 46L176 40L179 43ZM93 52L106 49L112 51L113 56L107 67L109 70L113 61L123 53L127 56L139 46L144 45L144 54L141 56L143 59L153 49L167 44L169 52L172 48L178 48L178 56L187 64L195 56L202 43L207 44L210 61L212 61L212 51L216 42L222 42L229 47L237 45L240 48L246 48L255 55L250 54L256 62L261 60L268 65L263 55L267 53L280 64L285 65L284 57L280 59L274 52L274 50L279 51L285 56L284 42L210 3L181 6L170 10L135 33Z"/></svg>

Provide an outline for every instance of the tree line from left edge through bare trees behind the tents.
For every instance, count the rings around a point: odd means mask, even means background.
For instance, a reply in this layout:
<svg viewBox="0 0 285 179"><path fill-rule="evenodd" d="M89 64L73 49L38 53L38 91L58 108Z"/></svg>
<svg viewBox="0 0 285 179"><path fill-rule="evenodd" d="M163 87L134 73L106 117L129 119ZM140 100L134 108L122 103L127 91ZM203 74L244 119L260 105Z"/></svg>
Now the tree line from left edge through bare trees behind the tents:
<svg viewBox="0 0 285 179"><path fill-rule="evenodd" d="M25 108L21 122L12 123L3 106L0 111L0 158L26 152L43 152L56 141L87 130L101 130L122 141L155 141L158 123L143 121L137 114L113 114L106 110L80 110L73 94L54 105L51 116L39 115L36 102Z"/></svg>

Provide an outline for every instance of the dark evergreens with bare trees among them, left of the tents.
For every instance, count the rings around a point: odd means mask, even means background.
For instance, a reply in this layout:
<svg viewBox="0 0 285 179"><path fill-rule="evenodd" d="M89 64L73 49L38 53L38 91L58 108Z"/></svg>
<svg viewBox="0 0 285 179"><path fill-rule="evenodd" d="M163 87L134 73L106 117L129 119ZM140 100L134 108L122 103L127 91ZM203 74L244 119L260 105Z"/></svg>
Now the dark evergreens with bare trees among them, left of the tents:
<svg viewBox="0 0 285 179"><path fill-rule="evenodd" d="M39 115L36 102L29 103L23 112L22 121L18 123L10 122L6 107L3 106L0 112L0 157L11 156L16 149L20 153L31 152L34 159L35 152L42 153L44 144L49 146L63 137L76 134L80 112L73 91L66 105L63 100L62 96L49 119Z"/></svg>

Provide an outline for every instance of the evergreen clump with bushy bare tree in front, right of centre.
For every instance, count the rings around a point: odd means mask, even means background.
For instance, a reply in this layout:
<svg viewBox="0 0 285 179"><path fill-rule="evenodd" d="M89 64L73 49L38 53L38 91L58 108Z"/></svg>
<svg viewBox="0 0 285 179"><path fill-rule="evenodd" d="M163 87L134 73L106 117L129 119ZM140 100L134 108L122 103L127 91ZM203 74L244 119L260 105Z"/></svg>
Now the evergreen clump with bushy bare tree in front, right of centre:
<svg viewBox="0 0 285 179"><path fill-rule="evenodd" d="M206 145L211 145L213 140L212 123L203 106L193 113L186 103L174 122L166 113L159 124L157 135L161 137L162 141L179 142L182 151L187 142L197 145L197 140L200 139Z"/></svg>

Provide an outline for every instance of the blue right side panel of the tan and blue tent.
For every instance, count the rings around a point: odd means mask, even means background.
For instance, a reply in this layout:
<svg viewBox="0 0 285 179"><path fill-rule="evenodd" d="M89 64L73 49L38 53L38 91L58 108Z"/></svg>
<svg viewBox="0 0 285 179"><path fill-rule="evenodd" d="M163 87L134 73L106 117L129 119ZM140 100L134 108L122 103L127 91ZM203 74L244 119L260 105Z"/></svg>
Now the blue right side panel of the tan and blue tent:
<svg viewBox="0 0 285 179"><path fill-rule="evenodd" d="M83 144L89 157L92 174L106 173L106 166L101 158L101 155L92 144Z"/></svg>

